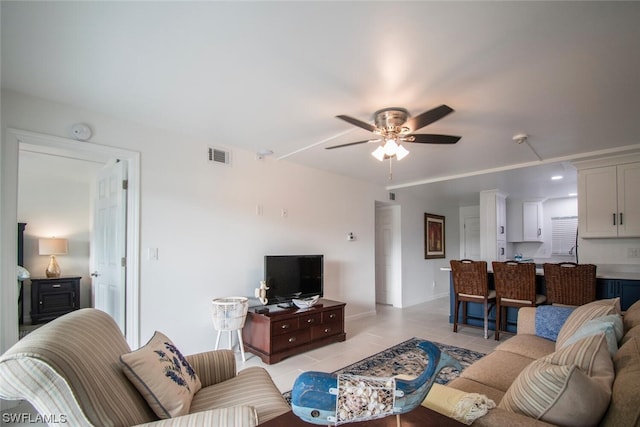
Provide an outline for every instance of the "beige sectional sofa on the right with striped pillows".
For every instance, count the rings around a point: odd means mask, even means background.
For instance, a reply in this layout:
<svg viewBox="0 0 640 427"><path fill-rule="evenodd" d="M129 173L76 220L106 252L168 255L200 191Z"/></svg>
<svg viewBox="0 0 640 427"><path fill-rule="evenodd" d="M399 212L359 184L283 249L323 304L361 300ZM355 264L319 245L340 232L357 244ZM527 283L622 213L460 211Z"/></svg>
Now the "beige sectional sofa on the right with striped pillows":
<svg viewBox="0 0 640 427"><path fill-rule="evenodd" d="M466 368L448 386L484 394L497 404L473 426L639 426L640 302L623 313L621 322L619 316L615 316L620 314L619 307L618 299L613 299L576 308L561 324L557 342L536 335L539 307L522 308L517 334ZM548 311L538 312L541 313ZM606 318L602 317L605 315ZM617 350L612 350L607 341L611 339L612 328L607 329L607 333L593 333L590 338L569 344L571 335L589 329L585 327L588 321L590 325L602 323L612 315L619 322L618 336L614 338L619 345ZM586 341L591 343L591 350L579 348L570 354L574 347L585 347ZM585 356L584 351L590 353ZM583 360L572 362L576 354ZM582 365L576 368L575 363ZM549 397L546 403L537 402L539 396L527 397L527 393L544 394L540 391L544 384L540 386L538 381L544 382L548 372L553 376L560 371L571 378L554 384L557 395ZM517 397L518 393L523 395ZM518 398L522 407L514 404Z"/></svg>

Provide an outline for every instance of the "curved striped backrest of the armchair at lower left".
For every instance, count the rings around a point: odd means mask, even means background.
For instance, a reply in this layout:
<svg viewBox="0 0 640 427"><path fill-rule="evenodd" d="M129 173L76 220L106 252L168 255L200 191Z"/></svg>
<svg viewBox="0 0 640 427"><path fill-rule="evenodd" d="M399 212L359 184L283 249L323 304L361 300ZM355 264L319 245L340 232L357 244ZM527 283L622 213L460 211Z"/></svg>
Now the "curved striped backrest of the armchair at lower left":
<svg viewBox="0 0 640 427"><path fill-rule="evenodd" d="M27 400L40 414L58 417L60 425L129 426L157 420L122 370L119 357L129 351L107 313L73 311L31 332L0 357L0 398Z"/></svg>

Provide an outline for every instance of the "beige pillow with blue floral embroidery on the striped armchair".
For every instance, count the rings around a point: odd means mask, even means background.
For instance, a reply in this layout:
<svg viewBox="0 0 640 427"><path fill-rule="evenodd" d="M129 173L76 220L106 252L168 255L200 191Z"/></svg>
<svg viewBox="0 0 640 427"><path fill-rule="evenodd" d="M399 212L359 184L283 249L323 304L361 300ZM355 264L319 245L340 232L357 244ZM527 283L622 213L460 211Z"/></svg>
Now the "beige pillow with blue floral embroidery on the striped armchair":
<svg viewBox="0 0 640 427"><path fill-rule="evenodd" d="M202 387L195 371L164 334L156 331L149 342L120 356L129 381L161 419L189 413L194 394Z"/></svg>

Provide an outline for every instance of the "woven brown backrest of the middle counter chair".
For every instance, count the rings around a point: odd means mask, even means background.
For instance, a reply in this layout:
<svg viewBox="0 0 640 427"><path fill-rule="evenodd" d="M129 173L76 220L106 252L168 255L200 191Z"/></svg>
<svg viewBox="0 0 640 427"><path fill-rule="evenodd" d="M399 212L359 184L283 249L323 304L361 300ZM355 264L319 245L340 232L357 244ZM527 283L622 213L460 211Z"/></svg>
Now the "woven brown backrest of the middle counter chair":
<svg viewBox="0 0 640 427"><path fill-rule="evenodd" d="M515 261L492 263L496 297L536 301L536 265Z"/></svg>

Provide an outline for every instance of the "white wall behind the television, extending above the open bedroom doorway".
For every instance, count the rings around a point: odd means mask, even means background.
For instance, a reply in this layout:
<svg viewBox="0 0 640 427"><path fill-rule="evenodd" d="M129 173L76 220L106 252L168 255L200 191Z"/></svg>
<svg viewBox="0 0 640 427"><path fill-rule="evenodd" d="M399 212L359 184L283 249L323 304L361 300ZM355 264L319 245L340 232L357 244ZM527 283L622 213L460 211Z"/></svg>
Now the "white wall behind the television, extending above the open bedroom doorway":
<svg viewBox="0 0 640 427"><path fill-rule="evenodd" d="M3 135L12 127L67 137L84 122L91 142L141 153L142 341L160 330L187 353L211 349L210 300L251 295L265 254L323 253L325 296L347 302L347 317L375 311L374 215L383 188L237 149L231 167L211 164L207 147L224 148L222 141L12 92L2 101ZM157 261L147 259L149 248L158 248Z"/></svg>

